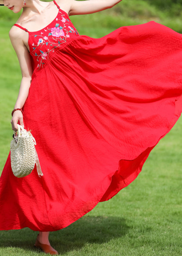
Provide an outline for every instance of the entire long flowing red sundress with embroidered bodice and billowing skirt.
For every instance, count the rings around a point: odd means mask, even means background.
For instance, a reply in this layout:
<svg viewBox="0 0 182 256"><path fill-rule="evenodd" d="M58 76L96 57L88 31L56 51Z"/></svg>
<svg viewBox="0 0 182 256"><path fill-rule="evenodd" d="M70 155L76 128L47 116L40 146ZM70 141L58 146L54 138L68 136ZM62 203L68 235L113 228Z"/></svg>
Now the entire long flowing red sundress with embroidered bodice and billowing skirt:
<svg viewBox="0 0 182 256"><path fill-rule="evenodd" d="M182 35L149 22L94 39L79 35L59 7L51 24L27 32L34 72L24 124L43 176L35 167L15 177L8 156L0 229L54 231L130 184L176 123Z"/></svg>

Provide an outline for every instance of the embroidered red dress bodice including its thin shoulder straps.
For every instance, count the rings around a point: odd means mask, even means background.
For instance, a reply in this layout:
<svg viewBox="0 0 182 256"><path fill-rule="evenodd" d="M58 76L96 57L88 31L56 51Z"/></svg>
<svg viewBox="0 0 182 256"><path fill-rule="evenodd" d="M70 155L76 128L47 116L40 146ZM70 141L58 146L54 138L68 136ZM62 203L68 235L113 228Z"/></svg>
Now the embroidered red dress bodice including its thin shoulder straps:
<svg viewBox="0 0 182 256"><path fill-rule="evenodd" d="M42 68L62 44L79 35L68 14L62 11L55 1L53 2L57 5L59 11L55 19L45 28L31 32L15 24L15 26L29 33L29 48L34 68Z"/></svg>

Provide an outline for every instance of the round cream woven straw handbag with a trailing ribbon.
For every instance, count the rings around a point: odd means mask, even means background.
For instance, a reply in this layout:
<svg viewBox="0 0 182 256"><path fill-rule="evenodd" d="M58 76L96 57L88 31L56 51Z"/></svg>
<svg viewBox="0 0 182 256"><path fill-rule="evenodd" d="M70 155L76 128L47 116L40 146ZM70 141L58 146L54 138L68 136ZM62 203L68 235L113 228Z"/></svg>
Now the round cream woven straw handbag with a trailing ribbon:
<svg viewBox="0 0 182 256"><path fill-rule="evenodd" d="M43 176L35 145L36 142L31 132L18 125L18 131L14 132L14 138L10 145L11 167L16 177L29 175L34 169L35 163L39 177Z"/></svg>

